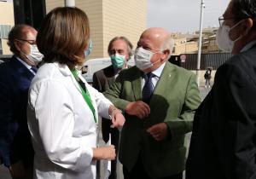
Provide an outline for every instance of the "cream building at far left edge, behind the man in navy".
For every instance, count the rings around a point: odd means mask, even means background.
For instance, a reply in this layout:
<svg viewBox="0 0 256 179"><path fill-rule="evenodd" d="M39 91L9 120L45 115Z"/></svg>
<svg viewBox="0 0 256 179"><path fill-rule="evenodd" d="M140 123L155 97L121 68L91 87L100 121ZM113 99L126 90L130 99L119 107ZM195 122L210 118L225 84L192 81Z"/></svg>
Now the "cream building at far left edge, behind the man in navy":
<svg viewBox="0 0 256 179"><path fill-rule="evenodd" d="M15 26L14 4L12 1L0 1L0 55L12 54L7 45L12 26Z"/></svg>

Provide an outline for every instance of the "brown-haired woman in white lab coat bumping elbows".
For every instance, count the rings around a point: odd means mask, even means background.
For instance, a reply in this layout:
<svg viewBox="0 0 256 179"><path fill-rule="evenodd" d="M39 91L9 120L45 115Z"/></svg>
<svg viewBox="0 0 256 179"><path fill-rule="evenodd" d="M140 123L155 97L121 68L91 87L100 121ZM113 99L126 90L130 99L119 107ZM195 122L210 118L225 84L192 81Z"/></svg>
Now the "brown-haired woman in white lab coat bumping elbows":
<svg viewBox="0 0 256 179"><path fill-rule="evenodd" d="M93 179L96 159L115 159L113 146L96 147L97 116L112 117L115 127L125 118L79 72L89 37L87 15L77 8L53 9L38 31L44 65L32 80L27 107L34 178Z"/></svg>

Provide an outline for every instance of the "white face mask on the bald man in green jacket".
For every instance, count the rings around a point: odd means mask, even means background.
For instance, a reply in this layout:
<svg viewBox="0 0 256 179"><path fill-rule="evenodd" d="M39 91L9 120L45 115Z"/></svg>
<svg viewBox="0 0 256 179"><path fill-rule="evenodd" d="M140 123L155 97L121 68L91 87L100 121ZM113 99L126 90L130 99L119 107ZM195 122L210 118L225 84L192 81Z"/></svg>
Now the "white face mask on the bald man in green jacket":
<svg viewBox="0 0 256 179"><path fill-rule="evenodd" d="M150 61L154 54L156 53L143 49L142 47L135 49L134 60L137 68L143 71L157 63L158 61L155 61L154 63Z"/></svg>

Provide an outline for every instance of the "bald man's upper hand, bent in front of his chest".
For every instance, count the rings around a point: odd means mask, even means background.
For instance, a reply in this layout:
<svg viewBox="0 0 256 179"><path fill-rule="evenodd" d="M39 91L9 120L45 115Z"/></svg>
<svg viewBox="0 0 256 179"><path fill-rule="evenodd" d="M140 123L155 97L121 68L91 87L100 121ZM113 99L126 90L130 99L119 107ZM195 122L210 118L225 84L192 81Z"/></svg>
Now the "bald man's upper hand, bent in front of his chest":
<svg viewBox="0 0 256 179"><path fill-rule="evenodd" d="M125 107L125 113L137 116L137 118L146 118L150 113L150 107L143 101L129 102Z"/></svg>

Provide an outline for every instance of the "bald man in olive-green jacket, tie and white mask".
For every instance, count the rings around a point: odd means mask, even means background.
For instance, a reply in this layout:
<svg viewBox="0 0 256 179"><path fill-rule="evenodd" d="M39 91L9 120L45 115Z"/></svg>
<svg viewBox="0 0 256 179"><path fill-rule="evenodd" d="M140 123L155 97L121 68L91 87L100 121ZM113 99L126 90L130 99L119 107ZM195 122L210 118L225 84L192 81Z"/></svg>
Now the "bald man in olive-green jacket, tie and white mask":
<svg viewBox="0 0 256 179"><path fill-rule="evenodd" d="M119 73L105 95L125 113L119 147L125 179L182 179L185 134L200 104L195 74L172 65L170 33L143 32L136 66Z"/></svg>

